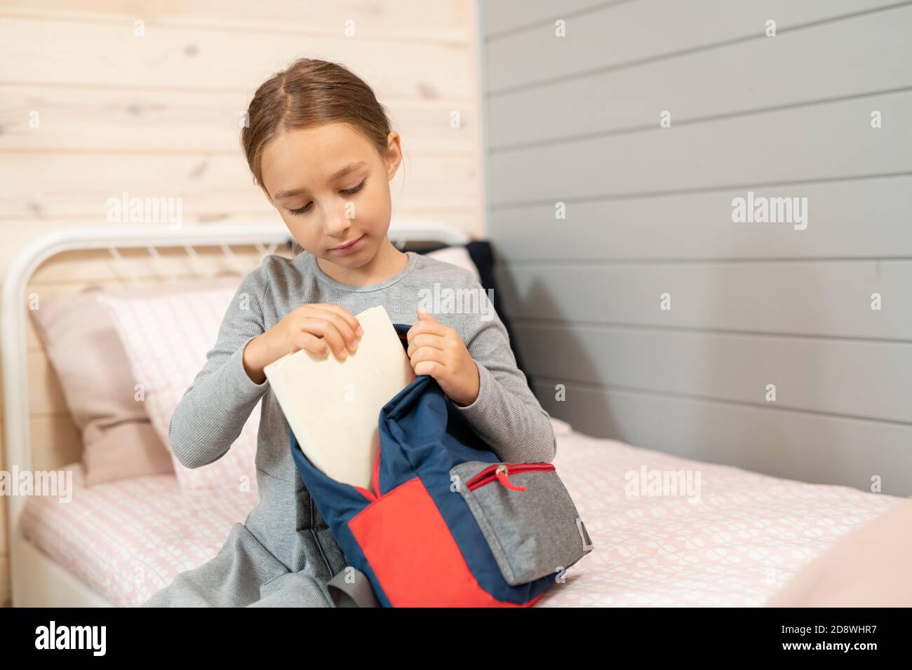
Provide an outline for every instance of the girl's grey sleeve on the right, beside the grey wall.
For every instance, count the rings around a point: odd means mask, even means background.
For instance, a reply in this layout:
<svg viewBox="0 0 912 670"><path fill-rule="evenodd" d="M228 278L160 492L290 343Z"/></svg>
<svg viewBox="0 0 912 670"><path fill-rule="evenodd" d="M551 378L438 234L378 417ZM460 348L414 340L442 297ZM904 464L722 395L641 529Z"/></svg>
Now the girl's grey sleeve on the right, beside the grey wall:
<svg viewBox="0 0 912 670"><path fill-rule="evenodd" d="M478 366L478 397L472 405L456 407L503 462L550 463L557 453L551 417L516 366L503 321L487 304L492 318L482 321L472 314L477 331L466 342Z"/></svg>

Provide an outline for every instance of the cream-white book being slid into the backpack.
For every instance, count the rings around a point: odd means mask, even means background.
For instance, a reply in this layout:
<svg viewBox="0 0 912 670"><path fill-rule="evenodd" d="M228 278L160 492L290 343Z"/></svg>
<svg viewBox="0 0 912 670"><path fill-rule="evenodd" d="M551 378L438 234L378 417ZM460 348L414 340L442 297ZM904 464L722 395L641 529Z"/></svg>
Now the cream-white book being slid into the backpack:
<svg viewBox="0 0 912 670"><path fill-rule="evenodd" d="M364 335L344 360L300 349L264 372L307 459L332 479L372 490L380 409L415 371L382 305L356 318Z"/></svg>

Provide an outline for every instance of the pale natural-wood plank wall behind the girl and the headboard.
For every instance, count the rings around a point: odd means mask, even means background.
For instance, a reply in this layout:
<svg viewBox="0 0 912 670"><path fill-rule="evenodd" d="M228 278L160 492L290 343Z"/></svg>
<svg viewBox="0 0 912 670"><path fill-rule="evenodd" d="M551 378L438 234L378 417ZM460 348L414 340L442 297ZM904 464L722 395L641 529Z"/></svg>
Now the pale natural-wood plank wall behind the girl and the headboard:
<svg viewBox="0 0 912 670"><path fill-rule="evenodd" d="M482 235L475 12L472 0L0 2L0 271L38 235L105 223L106 202L123 191L181 197L187 223L275 217L251 181L238 119L255 88L295 57L344 63L389 110L405 154L390 183L394 216ZM220 255L203 253L216 270ZM125 257L142 281L159 281L148 254ZM104 256L66 254L33 288L44 296L117 284L113 271ZM28 363L33 437L44 445L36 458L59 467L78 459L78 431L34 331ZM0 498L0 604L9 598L5 526Z"/></svg>

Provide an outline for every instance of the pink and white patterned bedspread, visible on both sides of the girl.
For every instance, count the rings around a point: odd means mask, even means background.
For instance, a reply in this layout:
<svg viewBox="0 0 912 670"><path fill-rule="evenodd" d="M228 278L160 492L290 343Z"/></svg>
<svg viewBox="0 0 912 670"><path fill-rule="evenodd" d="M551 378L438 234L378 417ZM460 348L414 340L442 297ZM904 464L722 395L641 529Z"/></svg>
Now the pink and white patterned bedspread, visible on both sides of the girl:
<svg viewBox="0 0 912 670"><path fill-rule="evenodd" d="M554 465L595 550L539 607L760 605L846 532L904 500L679 459L553 421ZM675 471L689 471L689 494L630 489ZM173 475L159 475L77 490L69 504L30 498L24 523L42 551L130 606L212 558L255 504L255 493L181 493Z"/></svg>

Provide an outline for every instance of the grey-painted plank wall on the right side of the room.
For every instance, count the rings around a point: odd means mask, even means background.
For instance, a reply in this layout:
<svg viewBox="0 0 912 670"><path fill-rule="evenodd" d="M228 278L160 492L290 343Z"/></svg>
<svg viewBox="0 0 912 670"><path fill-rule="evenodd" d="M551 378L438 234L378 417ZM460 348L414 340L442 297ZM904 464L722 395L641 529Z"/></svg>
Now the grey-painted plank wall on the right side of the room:
<svg viewBox="0 0 912 670"><path fill-rule="evenodd" d="M912 494L912 3L482 17L490 237L544 407L642 448ZM806 198L806 228L733 222L748 191Z"/></svg>

